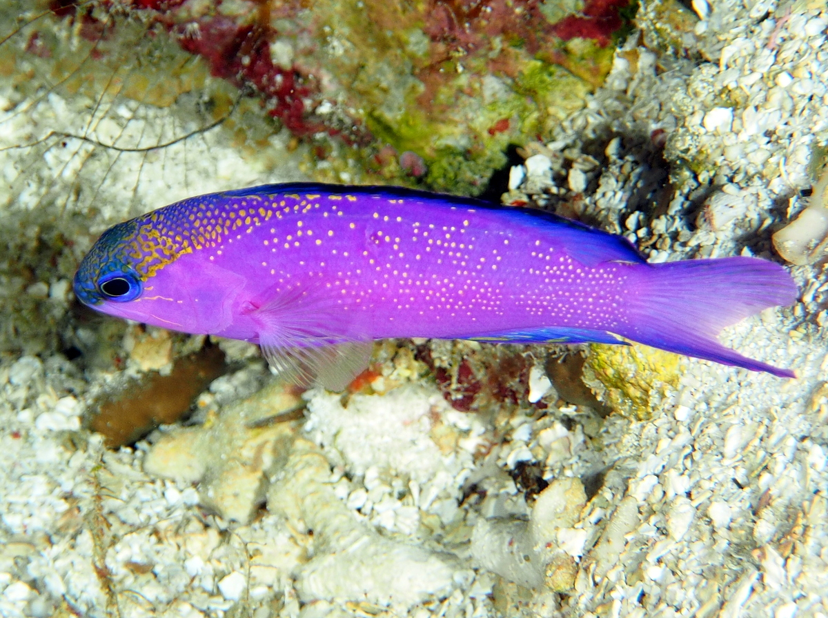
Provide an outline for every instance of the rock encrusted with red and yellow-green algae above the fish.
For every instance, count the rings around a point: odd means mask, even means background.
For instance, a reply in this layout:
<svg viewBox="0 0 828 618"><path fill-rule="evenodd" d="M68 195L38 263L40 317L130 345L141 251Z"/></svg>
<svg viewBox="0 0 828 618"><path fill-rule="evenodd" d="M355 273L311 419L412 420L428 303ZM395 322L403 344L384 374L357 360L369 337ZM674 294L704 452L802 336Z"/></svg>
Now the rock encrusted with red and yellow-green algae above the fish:
<svg viewBox="0 0 828 618"><path fill-rule="evenodd" d="M214 122L250 132L229 103L236 86L314 143L332 171L349 169L337 161L347 153L381 178L479 194L508 144L549 132L602 83L628 31L627 4L153 1L116 13L105 2L60 2L12 36L28 37L26 53L54 64L56 84L73 96L166 107L206 90ZM60 42L45 27L55 19L79 35L79 50L56 61ZM142 50L138 70L122 57L123 40ZM129 147L126 137L118 146ZM399 165L406 152L425 162L413 179Z"/></svg>

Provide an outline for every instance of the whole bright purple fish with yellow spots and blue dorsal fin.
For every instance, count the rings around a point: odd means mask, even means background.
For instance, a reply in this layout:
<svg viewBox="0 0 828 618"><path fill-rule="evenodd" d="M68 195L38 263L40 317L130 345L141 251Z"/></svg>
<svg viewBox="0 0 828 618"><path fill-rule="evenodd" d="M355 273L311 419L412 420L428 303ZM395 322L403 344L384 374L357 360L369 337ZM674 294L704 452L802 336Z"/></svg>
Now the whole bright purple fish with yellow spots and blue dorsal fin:
<svg viewBox="0 0 828 618"><path fill-rule="evenodd" d="M750 257L647 264L626 239L531 209L392 187L270 184L103 233L75 275L93 309L258 343L344 386L375 338L623 343L793 377L716 340L797 297ZM331 373L333 371L333 373Z"/></svg>

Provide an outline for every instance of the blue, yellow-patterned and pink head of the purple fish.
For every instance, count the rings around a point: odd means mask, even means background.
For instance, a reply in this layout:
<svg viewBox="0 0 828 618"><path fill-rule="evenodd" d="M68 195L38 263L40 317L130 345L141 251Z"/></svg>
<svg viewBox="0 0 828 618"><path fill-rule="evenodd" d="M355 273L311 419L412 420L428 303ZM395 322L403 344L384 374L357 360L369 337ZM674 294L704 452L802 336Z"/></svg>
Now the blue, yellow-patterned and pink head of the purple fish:
<svg viewBox="0 0 828 618"><path fill-rule="evenodd" d="M153 214L103 232L75 274L75 295L118 318L184 333L222 332L233 321L244 279L205 264L186 239L159 231Z"/></svg>

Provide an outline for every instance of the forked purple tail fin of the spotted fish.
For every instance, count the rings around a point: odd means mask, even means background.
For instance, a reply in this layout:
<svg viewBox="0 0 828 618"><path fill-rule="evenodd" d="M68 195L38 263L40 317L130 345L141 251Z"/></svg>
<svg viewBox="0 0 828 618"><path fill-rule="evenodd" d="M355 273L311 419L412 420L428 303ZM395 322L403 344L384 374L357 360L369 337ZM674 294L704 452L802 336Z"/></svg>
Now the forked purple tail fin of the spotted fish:
<svg viewBox="0 0 828 618"><path fill-rule="evenodd" d="M628 305L629 328L619 335L689 357L796 377L793 371L744 357L716 340L725 326L794 302L797 285L782 266L753 257L728 257L633 268L642 278Z"/></svg>

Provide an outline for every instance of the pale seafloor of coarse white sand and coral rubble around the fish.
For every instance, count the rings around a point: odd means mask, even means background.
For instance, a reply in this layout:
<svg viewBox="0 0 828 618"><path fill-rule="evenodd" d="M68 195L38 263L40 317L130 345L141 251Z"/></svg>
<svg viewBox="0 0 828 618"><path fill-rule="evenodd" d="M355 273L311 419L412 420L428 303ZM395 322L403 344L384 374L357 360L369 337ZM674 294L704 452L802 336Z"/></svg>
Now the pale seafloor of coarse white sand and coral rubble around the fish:
<svg viewBox="0 0 828 618"><path fill-rule="evenodd" d="M635 237L674 232L647 250L655 261L768 252L770 231L807 203L807 165L828 141L824 4L697 8L706 18L685 43L706 61L658 58L631 38L604 87L538 151L551 161L609 127L663 128L668 151L695 153L696 180L719 196L705 203L706 227L688 220L692 180L674 182L656 220L631 218L628 199L652 171L634 151L590 172L596 221ZM656 36L646 8L639 24L644 41ZM81 427L94 395L116 373L163 368L170 352L159 360L131 340L127 369L90 362L85 373L55 352L54 333L104 360L124 345L123 329L108 341L103 322L70 310L71 270L94 236L190 194L308 170L287 137L256 159L221 130L152 156L71 139L13 147L49 131L152 137L193 121L136 103L90 122L82 93L26 100L12 78L0 80L0 302L4 349L22 352L0 357L0 615L828 616L820 262L792 267L796 305L722 337L796 380L684 359L641 419L596 420L546 391L546 414L514 405L495 421L453 410L410 354L386 351L374 394L343 406L313 390L301 419L267 423L296 397L234 349L243 360L201 395L200 422L107 449ZM513 189L538 193L551 167L532 160ZM577 173L567 182L583 189ZM62 238L60 260L38 264L48 252L36 237ZM535 395L546 384L537 367ZM519 462L550 482L528 503L508 474Z"/></svg>

